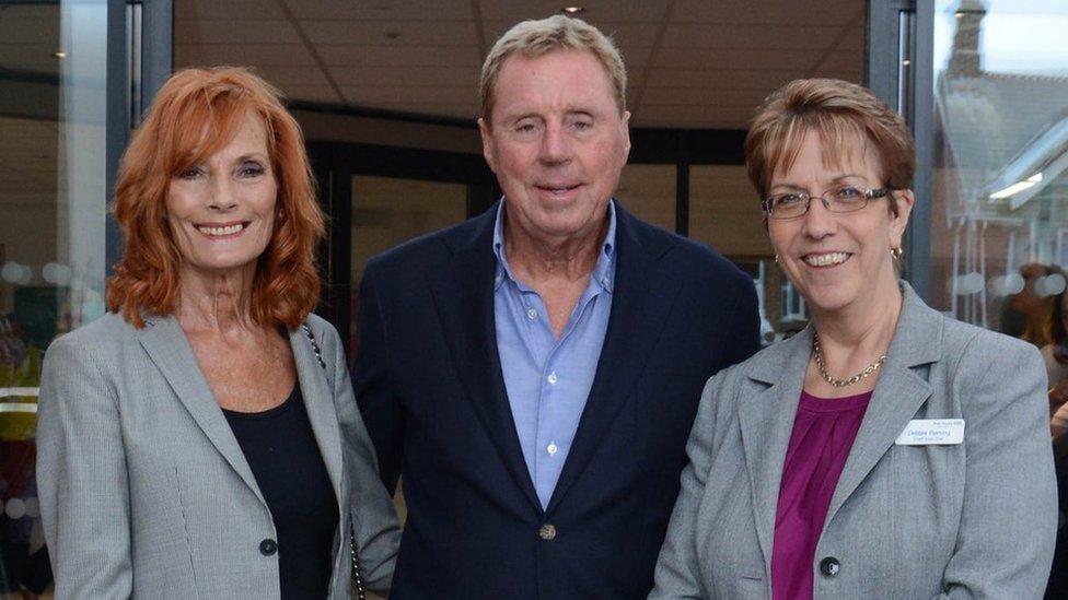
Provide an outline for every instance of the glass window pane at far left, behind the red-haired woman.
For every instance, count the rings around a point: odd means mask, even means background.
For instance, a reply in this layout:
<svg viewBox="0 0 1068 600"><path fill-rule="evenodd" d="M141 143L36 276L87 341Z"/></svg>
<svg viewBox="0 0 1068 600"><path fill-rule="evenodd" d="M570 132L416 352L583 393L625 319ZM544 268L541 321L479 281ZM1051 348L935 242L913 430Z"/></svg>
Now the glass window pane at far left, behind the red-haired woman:
<svg viewBox="0 0 1068 600"><path fill-rule="evenodd" d="M104 309L106 8L0 7L0 596L51 578L34 483L40 358Z"/></svg>

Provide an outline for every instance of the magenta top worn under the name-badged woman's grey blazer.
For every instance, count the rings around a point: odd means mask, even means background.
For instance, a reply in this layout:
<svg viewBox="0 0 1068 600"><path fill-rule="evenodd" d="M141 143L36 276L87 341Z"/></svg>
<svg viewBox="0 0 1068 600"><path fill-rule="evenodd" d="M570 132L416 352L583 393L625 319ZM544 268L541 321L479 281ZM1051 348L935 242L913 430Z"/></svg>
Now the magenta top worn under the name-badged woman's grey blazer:
<svg viewBox="0 0 1068 600"><path fill-rule="evenodd" d="M869 400L870 391L845 398L801 392L775 515L773 599L812 598L816 542Z"/></svg>

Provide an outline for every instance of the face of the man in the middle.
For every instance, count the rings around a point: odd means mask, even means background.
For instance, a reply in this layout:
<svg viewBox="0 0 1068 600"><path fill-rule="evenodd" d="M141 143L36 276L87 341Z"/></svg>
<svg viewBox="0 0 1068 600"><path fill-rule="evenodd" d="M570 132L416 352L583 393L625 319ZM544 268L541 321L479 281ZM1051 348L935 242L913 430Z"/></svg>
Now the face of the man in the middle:
<svg viewBox="0 0 1068 600"><path fill-rule="evenodd" d="M508 231L545 243L595 235L630 152L630 114L619 114L604 68L587 50L516 55L492 94L478 127Z"/></svg>

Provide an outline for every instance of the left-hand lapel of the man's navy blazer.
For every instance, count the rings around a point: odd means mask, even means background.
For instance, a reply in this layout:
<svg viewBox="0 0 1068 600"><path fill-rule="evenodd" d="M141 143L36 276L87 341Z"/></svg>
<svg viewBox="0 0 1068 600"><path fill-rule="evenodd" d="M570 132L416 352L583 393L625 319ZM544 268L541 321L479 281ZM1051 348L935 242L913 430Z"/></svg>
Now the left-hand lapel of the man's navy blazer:
<svg viewBox="0 0 1068 600"><path fill-rule="evenodd" d="M450 267L431 273L430 289L467 397L498 456L527 501L541 513L542 504L523 459L508 403L497 350L494 319L497 258L492 249L497 205L478 219L471 238L461 240Z"/></svg>

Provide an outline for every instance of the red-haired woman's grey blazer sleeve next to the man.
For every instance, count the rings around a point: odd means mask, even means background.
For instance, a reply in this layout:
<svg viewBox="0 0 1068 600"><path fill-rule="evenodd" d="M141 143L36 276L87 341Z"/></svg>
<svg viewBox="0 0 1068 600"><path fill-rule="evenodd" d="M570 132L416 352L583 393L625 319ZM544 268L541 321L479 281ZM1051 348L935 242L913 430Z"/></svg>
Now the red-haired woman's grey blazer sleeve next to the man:
<svg viewBox="0 0 1068 600"><path fill-rule="evenodd" d="M363 419L356 405L345 352L337 330L327 328L333 341L334 402L345 444L345 463L351 474L349 514L352 518L360 568L368 588L388 590L400 543L400 525L393 498L379 480L379 462ZM345 532L347 536L348 532Z"/></svg>

